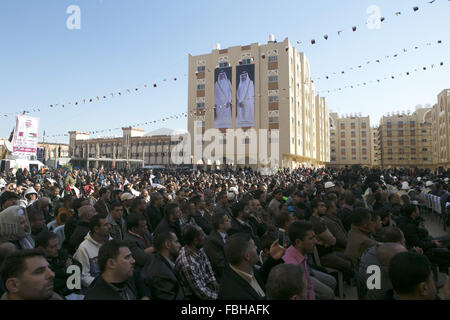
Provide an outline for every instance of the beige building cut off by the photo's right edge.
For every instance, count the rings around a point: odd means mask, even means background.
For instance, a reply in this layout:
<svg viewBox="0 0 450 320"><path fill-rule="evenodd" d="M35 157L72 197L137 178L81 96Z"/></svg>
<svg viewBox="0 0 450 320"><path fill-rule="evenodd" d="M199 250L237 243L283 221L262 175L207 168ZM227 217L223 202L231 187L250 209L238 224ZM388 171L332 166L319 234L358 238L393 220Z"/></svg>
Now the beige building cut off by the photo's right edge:
<svg viewBox="0 0 450 320"><path fill-rule="evenodd" d="M450 89L442 90L432 110L432 150L435 167L450 167Z"/></svg>

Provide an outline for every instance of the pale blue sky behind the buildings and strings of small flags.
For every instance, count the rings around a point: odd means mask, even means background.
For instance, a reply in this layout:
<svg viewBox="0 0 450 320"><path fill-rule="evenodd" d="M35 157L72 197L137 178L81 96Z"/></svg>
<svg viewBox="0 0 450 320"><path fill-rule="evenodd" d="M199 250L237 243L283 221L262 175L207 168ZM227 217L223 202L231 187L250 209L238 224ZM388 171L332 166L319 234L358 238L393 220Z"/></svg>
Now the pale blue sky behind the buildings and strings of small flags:
<svg viewBox="0 0 450 320"><path fill-rule="evenodd" d="M70 5L81 9L80 30L66 27ZM379 6L386 18L379 30L365 26L370 5ZM413 12L414 6L419 11ZM397 11L402 12L398 17ZM306 53L313 79L321 77L315 81L318 91L445 63L410 77L323 94L331 110L368 114L376 124L387 112L433 104L441 90L450 88L449 14L447 0L433 4L424 0L2 0L0 114L40 108L41 112L31 114L40 118L40 137L44 130L47 136L101 130L179 114L187 109L184 74L189 53L209 53L215 43L222 48L265 43L269 33L278 40L289 37ZM358 27L356 32L352 26ZM344 30L339 37L338 30ZM328 41L324 34L329 35ZM310 45L313 38L314 46ZM437 40L443 43L437 45ZM303 43L298 46L296 41ZM427 46L428 42L433 45ZM416 45L418 50L413 49ZM332 76L394 54L399 56ZM329 80L322 78L326 74ZM168 81L163 82L164 78ZM69 101L153 82L158 88L67 106ZM48 107L56 103L66 107ZM0 137L7 137L13 126L13 116L0 116ZM186 128L187 121L182 118L143 128L151 131L162 126ZM46 140L68 142L67 137Z"/></svg>

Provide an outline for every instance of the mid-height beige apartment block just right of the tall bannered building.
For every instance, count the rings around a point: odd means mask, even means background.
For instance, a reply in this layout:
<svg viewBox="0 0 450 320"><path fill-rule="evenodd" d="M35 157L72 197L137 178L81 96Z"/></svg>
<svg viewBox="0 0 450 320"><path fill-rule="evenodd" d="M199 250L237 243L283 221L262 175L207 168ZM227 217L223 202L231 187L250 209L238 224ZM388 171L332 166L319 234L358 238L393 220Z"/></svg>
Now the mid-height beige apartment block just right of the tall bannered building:
<svg viewBox="0 0 450 320"><path fill-rule="evenodd" d="M372 166L373 132L370 118L360 114L330 114L330 166Z"/></svg>

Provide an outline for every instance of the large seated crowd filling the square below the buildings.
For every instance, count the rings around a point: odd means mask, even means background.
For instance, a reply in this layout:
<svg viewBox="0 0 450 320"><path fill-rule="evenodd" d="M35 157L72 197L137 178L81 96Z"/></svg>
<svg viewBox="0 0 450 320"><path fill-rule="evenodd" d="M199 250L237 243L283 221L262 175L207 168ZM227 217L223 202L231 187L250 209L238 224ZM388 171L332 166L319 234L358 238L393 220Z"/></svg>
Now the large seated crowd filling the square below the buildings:
<svg viewBox="0 0 450 320"><path fill-rule="evenodd" d="M450 280L438 277L449 273L450 235L424 224L432 194L450 227L449 177L360 167L2 172L1 298L331 300L345 283L359 299L450 299ZM380 285L368 288L373 266Z"/></svg>

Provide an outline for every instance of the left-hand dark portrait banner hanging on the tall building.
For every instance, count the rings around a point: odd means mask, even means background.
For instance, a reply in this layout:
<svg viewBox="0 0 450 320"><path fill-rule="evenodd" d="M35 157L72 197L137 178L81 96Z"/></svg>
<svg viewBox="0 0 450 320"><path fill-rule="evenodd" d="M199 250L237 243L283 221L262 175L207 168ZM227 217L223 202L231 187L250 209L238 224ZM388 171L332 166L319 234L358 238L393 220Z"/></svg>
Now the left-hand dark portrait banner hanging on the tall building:
<svg viewBox="0 0 450 320"><path fill-rule="evenodd" d="M231 67L214 70L214 128L216 129L233 127L231 77Z"/></svg>

